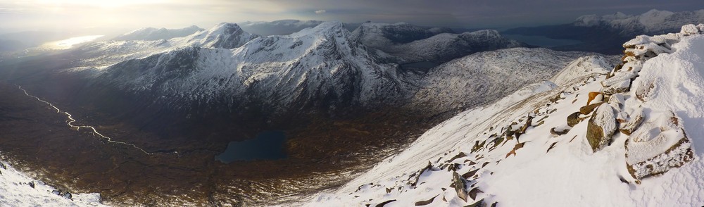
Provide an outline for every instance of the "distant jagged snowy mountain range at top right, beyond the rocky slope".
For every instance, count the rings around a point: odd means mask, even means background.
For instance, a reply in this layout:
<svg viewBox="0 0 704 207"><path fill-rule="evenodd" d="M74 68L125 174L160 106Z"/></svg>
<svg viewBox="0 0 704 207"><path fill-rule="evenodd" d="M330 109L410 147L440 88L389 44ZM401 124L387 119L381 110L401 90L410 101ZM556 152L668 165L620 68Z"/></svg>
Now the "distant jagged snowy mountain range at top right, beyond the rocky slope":
<svg viewBox="0 0 704 207"><path fill-rule="evenodd" d="M704 23L704 9L698 11L658 11L650 10L640 15L615 13L611 15L583 15L574 21L581 27L610 27L619 30L620 35L664 34L677 32L681 25Z"/></svg>

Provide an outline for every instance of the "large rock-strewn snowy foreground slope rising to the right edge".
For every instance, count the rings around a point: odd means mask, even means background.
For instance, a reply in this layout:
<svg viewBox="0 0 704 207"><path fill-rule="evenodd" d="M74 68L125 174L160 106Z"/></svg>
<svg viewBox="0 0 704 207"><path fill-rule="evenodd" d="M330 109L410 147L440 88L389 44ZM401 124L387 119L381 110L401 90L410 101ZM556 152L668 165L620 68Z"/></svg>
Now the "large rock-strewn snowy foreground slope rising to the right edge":
<svg viewBox="0 0 704 207"><path fill-rule="evenodd" d="M611 72L579 58L306 206L700 206L703 33L637 37Z"/></svg>

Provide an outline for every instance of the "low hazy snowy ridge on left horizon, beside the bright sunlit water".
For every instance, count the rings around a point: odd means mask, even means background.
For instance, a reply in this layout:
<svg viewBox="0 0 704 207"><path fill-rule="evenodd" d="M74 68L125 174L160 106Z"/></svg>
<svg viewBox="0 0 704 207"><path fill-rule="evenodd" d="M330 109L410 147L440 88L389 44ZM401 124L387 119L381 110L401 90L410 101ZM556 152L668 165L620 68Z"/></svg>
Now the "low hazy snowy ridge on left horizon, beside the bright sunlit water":
<svg viewBox="0 0 704 207"><path fill-rule="evenodd" d="M186 37L188 35L192 35L193 33L200 31L203 31L203 29L196 25L191 25L190 27L184 27L180 29L145 27L119 35L118 37L113 38L113 40L127 41L171 39L175 37Z"/></svg>

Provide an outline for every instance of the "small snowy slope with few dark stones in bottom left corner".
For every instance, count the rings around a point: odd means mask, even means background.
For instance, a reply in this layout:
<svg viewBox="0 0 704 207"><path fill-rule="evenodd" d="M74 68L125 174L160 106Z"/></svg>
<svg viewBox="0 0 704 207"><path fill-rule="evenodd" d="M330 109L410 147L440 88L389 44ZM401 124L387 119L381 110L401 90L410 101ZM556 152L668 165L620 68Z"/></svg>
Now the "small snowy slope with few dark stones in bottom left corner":
<svg viewBox="0 0 704 207"><path fill-rule="evenodd" d="M0 206L103 206L99 194L61 192L0 162Z"/></svg>

